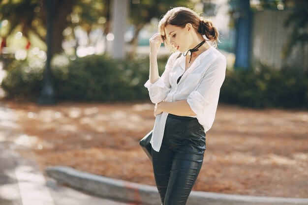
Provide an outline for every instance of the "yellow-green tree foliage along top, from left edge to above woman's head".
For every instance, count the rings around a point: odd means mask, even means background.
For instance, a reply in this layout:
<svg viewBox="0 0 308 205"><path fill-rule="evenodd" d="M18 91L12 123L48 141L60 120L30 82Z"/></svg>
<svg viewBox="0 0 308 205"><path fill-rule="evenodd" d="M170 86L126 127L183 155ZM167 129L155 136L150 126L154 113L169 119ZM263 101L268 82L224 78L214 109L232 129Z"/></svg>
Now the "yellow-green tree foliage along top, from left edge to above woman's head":
<svg viewBox="0 0 308 205"><path fill-rule="evenodd" d="M55 0L53 1L55 12L53 15L53 48L52 53L62 52L62 41L75 39L74 33L63 36L63 30L81 27L90 33L92 29L102 29L104 36L110 32L112 0ZM187 0L131 0L129 1L130 24L135 26L134 38L139 31L153 18L160 18L171 7L193 7L194 2ZM16 30L23 32L32 46L35 46L33 38L46 41L47 28L47 1L46 0L6 0L0 1L0 22L8 20L7 27L0 27L0 36L14 35ZM35 26L34 26L35 25ZM34 37L33 37L34 36Z"/></svg>

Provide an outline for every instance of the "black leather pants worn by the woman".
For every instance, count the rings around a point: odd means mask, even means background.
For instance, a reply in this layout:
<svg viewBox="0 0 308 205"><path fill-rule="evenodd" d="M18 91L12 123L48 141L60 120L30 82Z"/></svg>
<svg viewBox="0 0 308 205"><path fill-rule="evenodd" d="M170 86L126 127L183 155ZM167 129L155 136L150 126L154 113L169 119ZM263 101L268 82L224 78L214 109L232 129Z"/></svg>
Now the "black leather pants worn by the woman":
<svg viewBox="0 0 308 205"><path fill-rule="evenodd" d="M197 118L169 114L160 150L152 149L154 177L163 205L186 204L204 151L204 128Z"/></svg>

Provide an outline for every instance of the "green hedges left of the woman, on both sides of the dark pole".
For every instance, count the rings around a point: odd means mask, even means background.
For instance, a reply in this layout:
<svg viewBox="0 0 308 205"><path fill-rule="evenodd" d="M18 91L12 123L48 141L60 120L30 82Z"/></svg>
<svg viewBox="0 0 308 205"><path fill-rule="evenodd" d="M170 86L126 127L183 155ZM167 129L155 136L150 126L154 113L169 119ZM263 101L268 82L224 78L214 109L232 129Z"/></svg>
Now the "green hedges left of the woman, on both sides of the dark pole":
<svg viewBox="0 0 308 205"><path fill-rule="evenodd" d="M159 60L160 73L166 59ZM43 85L44 65L13 61L7 67L2 87L8 98L36 100ZM114 60L106 56L87 56L52 67L58 100L127 101L148 99L144 84L149 78L149 59ZM22 97L21 97L22 96Z"/></svg>

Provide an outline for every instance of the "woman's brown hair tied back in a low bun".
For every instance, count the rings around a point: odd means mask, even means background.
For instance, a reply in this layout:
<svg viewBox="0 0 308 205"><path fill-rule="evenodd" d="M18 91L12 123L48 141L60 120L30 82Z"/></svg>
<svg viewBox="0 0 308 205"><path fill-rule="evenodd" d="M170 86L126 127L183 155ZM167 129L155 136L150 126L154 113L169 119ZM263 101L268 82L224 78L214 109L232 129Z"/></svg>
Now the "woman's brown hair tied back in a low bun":
<svg viewBox="0 0 308 205"><path fill-rule="evenodd" d="M200 34L205 35L210 41L215 43L217 47L217 42L219 32L212 22L200 17L195 11L186 7L175 7L170 9L159 21L158 32L161 33L161 37L164 40L165 46L168 50L173 50L169 43L168 35L165 33L165 28L168 24L184 28L186 24L191 24L192 27Z"/></svg>

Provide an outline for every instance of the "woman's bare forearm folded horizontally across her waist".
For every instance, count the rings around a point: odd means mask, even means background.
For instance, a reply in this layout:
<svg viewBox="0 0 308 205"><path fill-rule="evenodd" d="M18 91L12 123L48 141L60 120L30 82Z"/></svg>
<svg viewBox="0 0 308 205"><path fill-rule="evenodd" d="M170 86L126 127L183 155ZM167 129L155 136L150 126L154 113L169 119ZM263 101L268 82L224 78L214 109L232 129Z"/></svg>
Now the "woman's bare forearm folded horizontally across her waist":
<svg viewBox="0 0 308 205"><path fill-rule="evenodd" d="M154 116L162 112L170 113L177 116L195 116L196 114L191 110L187 100L180 100L176 102L160 102L155 105Z"/></svg>

